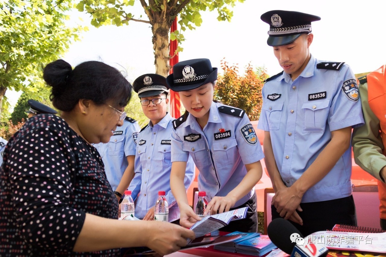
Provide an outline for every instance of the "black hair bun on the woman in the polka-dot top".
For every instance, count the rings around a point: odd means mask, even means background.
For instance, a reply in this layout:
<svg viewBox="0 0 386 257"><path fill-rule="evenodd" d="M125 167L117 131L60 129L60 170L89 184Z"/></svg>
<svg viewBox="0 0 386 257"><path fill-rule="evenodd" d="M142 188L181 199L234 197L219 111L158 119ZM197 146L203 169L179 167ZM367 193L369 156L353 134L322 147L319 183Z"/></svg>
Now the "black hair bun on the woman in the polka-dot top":
<svg viewBox="0 0 386 257"><path fill-rule="evenodd" d="M68 76L71 74L72 68L69 63L59 59L47 64L43 70L43 78L47 85L52 86L52 93L63 90L66 86Z"/></svg>

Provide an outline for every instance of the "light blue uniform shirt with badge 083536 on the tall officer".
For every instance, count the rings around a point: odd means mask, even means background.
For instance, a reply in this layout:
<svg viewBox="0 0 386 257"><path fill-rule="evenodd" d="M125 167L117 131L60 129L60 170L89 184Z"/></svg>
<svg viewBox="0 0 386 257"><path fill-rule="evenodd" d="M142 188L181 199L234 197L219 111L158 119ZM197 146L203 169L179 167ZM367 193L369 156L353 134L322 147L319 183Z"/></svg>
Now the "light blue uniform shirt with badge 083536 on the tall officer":
<svg viewBox="0 0 386 257"><path fill-rule="evenodd" d="M258 128L270 132L276 165L288 187L330 142L331 131L364 124L356 79L350 67L326 62L323 66L340 70L317 68L321 62L311 56L295 81L283 73L262 88ZM306 191L301 202L350 196L351 165L350 146L332 170Z"/></svg>

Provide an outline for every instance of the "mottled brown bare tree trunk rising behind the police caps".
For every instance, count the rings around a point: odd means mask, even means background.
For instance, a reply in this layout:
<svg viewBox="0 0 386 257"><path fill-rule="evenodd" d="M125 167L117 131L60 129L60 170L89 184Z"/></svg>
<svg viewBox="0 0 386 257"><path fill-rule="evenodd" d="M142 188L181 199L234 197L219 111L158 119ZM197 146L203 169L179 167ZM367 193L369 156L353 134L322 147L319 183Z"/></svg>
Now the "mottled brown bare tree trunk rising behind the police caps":
<svg viewBox="0 0 386 257"><path fill-rule="evenodd" d="M154 64L156 74L168 76L169 74L169 30L170 26L166 19L156 21L152 26Z"/></svg>

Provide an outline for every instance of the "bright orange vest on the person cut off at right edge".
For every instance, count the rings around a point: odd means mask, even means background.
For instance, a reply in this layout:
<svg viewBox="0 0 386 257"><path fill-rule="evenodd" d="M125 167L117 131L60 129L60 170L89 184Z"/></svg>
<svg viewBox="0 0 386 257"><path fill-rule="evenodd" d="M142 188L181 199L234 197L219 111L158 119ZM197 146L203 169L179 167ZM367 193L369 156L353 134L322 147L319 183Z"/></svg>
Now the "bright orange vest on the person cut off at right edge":
<svg viewBox="0 0 386 257"><path fill-rule="evenodd" d="M379 119L383 154L386 156L386 65L367 74L367 89L369 93L369 106ZM386 178L384 178L386 180ZM386 181L385 181L386 182ZM386 184L378 181L378 194L380 217L386 219Z"/></svg>

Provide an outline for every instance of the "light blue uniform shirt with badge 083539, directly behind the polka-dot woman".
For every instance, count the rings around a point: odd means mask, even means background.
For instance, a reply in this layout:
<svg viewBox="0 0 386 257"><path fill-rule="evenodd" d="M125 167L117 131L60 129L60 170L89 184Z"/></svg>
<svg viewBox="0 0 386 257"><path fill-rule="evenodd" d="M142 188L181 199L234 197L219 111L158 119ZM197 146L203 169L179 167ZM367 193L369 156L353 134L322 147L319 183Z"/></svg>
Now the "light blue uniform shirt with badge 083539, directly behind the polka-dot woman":
<svg viewBox="0 0 386 257"><path fill-rule="evenodd" d="M107 180L113 191L117 189L129 164L126 157L135 155L135 148L137 147L135 141L137 140L139 130L140 128L136 121L130 122L125 119L123 125L115 129L110 142L93 145L102 157Z"/></svg>

